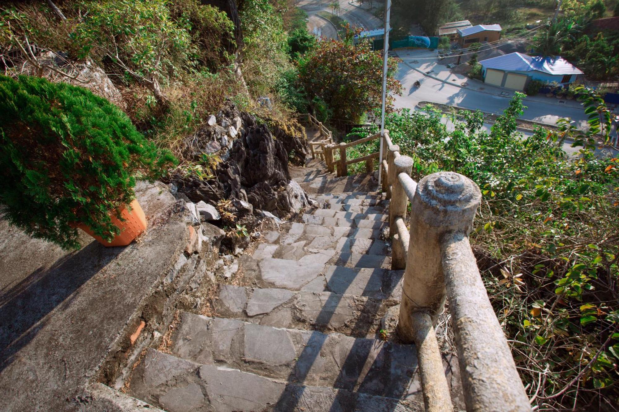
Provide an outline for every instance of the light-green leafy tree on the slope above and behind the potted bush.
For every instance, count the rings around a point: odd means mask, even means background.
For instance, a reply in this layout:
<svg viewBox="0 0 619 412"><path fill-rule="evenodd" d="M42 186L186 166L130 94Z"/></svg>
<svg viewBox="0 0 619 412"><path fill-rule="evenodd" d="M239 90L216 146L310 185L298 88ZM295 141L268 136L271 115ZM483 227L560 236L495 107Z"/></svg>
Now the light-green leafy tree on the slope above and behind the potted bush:
<svg viewBox="0 0 619 412"><path fill-rule="evenodd" d="M167 108L160 80L191 64L196 51L188 21L173 20L165 0L106 0L88 6L88 14L73 33L82 45L82 56L110 59Z"/></svg>

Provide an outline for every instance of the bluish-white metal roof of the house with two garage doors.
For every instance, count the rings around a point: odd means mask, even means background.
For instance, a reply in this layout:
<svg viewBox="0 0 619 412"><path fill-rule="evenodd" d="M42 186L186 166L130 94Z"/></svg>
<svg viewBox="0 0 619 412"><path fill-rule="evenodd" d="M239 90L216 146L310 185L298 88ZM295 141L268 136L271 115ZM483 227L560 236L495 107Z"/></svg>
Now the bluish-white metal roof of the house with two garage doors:
<svg viewBox="0 0 619 412"><path fill-rule="evenodd" d="M548 74L582 74L578 67L561 57L543 58L532 57L522 53L509 53L479 62L486 69L498 69L504 71L528 72L537 70Z"/></svg>

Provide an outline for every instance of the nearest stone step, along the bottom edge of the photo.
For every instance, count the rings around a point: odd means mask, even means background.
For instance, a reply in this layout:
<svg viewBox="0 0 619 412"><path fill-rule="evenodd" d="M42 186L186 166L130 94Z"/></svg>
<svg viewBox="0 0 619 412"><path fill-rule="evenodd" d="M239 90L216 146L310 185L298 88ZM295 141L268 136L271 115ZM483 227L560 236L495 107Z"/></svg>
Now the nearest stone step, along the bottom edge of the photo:
<svg viewBox="0 0 619 412"><path fill-rule="evenodd" d="M420 393L399 400L342 388L309 386L294 382L292 377L272 379L227 366L195 363L151 348L136 367L129 392L169 412L424 410Z"/></svg>

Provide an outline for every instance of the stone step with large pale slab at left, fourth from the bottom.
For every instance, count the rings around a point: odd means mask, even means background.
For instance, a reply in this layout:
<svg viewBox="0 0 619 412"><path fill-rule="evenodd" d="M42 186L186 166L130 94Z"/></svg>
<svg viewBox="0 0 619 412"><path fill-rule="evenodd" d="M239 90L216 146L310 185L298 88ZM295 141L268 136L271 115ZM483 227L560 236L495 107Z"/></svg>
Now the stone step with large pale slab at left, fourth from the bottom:
<svg viewBox="0 0 619 412"><path fill-rule="evenodd" d="M319 260L319 259L322 259ZM327 265L328 255L306 255L299 260L241 255L234 280L240 286L281 288L294 291L334 292L374 299L402 297L403 270L350 268Z"/></svg>

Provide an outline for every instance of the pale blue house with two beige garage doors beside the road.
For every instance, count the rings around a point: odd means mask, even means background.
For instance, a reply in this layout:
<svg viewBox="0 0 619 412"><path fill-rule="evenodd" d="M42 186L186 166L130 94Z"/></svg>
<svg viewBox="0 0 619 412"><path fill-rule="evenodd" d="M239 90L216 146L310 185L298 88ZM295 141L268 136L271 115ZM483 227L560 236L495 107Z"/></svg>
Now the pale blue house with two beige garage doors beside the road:
<svg viewBox="0 0 619 412"><path fill-rule="evenodd" d="M514 90L524 90L532 79L566 85L582 74L578 67L559 56L532 57L516 52L479 63L484 82Z"/></svg>

